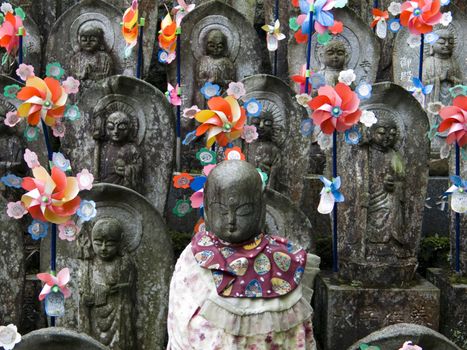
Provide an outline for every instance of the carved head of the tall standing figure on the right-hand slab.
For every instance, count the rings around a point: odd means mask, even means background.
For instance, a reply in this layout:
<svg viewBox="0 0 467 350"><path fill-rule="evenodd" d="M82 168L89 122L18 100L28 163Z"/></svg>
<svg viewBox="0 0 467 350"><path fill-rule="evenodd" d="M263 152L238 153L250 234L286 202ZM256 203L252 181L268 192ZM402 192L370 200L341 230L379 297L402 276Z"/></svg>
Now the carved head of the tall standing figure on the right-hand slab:
<svg viewBox="0 0 467 350"><path fill-rule="evenodd" d="M397 124L389 113L378 115L378 122L369 130L370 145L376 149L387 152L394 149L398 137Z"/></svg>

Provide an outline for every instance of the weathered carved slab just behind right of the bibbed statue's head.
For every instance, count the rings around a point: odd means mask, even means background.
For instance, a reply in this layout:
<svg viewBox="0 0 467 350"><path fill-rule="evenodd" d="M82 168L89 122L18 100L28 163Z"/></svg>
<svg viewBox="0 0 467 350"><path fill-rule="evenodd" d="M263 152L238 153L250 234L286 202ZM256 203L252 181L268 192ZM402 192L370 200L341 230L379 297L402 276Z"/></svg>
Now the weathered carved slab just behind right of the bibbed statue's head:
<svg viewBox="0 0 467 350"><path fill-rule="evenodd" d="M249 124L256 126L259 137L245 144L247 160L268 174L268 188L299 203L303 196L303 174L310 162L311 139L300 132L307 112L279 78L259 74L242 82L247 92L242 100L255 98L263 106L259 117L249 118Z"/></svg>

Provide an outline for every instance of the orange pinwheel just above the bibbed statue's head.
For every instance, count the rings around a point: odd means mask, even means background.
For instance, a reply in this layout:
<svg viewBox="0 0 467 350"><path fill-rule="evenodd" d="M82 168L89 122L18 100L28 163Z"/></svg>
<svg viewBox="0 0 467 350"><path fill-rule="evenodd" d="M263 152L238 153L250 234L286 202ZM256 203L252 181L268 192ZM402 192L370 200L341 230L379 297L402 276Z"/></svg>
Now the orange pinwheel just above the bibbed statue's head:
<svg viewBox="0 0 467 350"><path fill-rule="evenodd" d="M219 146L227 146L242 135L246 113L235 98L216 96L208 101L208 106L209 110L195 114L195 119L202 123L196 129L196 136L207 132L207 147L211 147L216 141Z"/></svg>

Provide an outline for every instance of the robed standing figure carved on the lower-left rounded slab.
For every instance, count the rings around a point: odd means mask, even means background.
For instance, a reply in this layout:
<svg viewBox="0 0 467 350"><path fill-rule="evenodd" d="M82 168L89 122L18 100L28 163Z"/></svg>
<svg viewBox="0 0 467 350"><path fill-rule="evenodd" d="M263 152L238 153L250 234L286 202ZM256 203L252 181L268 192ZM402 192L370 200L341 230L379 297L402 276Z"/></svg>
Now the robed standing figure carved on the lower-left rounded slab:
<svg viewBox="0 0 467 350"><path fill-rule="evenodd" d="M92 229L94 258L83 274L80 323L83 331L111 350L134 350L136 270L123 255L123 227L101 218Z"/></svg>

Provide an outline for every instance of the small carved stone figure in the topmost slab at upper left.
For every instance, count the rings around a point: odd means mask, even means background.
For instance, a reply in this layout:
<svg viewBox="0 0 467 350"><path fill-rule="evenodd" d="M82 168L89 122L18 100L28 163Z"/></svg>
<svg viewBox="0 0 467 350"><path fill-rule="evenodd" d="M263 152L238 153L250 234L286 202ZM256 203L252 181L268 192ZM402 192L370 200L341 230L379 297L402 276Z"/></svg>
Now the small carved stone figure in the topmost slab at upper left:
<svg viewBox="0 0 467 350"><path fill-rule="evenodd" d="M86 84L112 75L112 57L106 52L104 31L93 22L78 32L79 51L71 58L71 73Z"/></svg>

